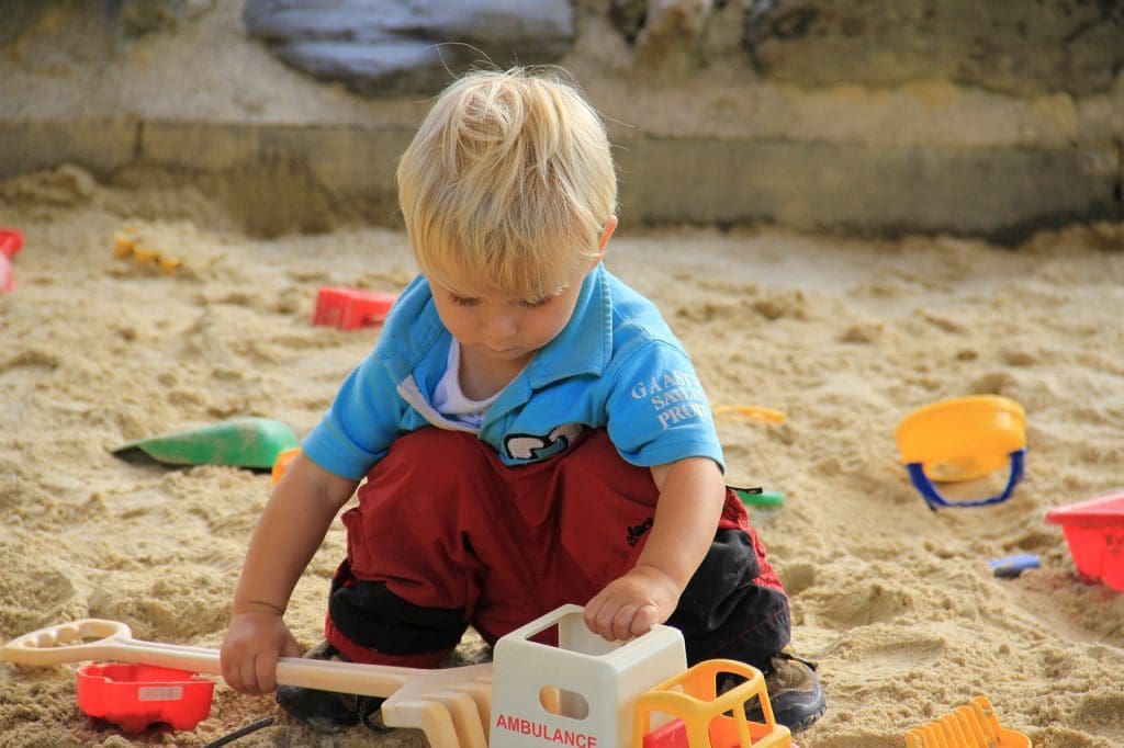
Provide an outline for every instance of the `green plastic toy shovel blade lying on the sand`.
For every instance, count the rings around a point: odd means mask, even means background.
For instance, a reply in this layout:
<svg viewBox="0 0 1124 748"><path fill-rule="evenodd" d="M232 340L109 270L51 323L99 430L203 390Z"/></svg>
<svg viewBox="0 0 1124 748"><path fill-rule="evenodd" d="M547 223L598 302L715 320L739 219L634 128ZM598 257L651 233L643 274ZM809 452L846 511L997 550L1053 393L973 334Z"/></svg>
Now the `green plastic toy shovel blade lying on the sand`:
<svg viewBox="0 0 1124 748"><path fill-rule="evenodd" d="M143 453L169 465L234 465L269 469L278 454L299 445L281 421L236 418L215 426L129 441L112 451L123 458Z"/></svg>

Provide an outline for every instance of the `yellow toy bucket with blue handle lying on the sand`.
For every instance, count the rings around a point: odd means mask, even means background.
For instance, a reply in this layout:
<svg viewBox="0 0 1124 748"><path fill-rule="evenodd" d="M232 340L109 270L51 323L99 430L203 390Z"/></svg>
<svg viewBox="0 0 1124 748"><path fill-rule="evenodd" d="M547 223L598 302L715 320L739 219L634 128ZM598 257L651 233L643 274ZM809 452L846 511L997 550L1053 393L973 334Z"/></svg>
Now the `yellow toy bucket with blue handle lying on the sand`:
<svg viewBox="0 0 1124 748"><path fill-rule="evenodd" d="M1026 411L1009 398L973 395L935 402L903 419L896 437L914 486L933 510L1006 501L1023 476ZM933 486L934 481L973 481L1006 464L1007 485L994 496L948 501Z"/></svg>

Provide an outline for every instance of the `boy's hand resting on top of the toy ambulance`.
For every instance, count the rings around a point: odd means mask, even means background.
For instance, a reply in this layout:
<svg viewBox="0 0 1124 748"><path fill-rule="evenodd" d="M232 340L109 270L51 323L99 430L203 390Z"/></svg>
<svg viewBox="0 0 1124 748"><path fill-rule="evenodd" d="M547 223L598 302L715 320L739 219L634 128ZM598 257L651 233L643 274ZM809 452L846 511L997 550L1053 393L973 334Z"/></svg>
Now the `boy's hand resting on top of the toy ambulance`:
<svg viewBox="0 0 1124 748"><path fill-rule="evenodd" d="M674 612L682 589L654 566L637 565L609 582L586 605L586 626L607 641L647 633Z"/></svg>

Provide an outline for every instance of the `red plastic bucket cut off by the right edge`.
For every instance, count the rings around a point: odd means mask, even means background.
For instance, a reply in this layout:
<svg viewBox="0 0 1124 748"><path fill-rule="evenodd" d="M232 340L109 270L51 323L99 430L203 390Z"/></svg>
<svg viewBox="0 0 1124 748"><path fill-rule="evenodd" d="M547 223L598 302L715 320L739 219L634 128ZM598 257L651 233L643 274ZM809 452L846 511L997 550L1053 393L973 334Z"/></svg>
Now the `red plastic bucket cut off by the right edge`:
<svg viewBox="0 0 1124 748"><path fill-rule="evenodd" d="M1124 591L1124 492L1059 507L1046 521L1061 526L1079 574Z"/></svg>

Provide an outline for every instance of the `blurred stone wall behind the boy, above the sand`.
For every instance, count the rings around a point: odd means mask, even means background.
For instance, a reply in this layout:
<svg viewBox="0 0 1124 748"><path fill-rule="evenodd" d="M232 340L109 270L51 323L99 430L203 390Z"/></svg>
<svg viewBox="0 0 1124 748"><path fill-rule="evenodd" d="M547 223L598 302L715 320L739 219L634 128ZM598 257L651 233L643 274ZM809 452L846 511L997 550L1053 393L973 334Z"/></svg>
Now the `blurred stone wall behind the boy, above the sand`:
<svg viewBox="0 0 1124 748"><path fill-rule="evenodd" d="M393 225L426 100L513 62L587 90L633 224L1014 244L1124 213L1116 0L9 0L0 179L171 175L261 234Z"/></svg>

